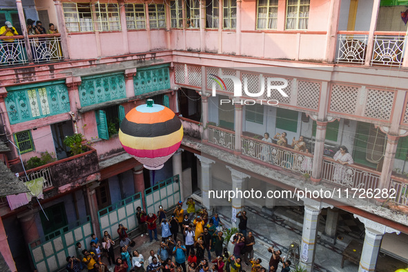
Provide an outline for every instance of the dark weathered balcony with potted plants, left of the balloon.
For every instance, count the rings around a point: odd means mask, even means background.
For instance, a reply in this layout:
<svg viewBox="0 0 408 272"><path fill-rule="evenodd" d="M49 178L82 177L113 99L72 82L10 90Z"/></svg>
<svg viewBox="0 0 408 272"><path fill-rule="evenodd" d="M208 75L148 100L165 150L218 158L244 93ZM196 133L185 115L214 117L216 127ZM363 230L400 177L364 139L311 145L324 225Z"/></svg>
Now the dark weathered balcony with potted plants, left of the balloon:
<svg viewBox="0 0 408 272"><path fill-rule="evenodd" d="M91 175L99 173L97 150L89 147L85 153L32 168L26 172L27 175L19 173L19 178L23 182L43 177L43 190L52 191L52 188L57 188L56 191L47 194L47 197L51 197L70 188L81 186Z"/></svg>

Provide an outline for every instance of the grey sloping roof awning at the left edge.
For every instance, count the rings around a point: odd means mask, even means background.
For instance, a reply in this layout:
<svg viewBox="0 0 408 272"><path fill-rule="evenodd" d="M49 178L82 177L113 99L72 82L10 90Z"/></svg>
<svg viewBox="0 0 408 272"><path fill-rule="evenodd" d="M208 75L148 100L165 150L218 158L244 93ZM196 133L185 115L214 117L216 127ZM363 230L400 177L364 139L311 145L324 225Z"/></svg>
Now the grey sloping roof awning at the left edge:
<svg viewBox="0 0 408 272"><path fill-rule="evenodd" d="M27 193L28 191L24 182L18 179L3 162L0 162L0 197Z"/></svg>

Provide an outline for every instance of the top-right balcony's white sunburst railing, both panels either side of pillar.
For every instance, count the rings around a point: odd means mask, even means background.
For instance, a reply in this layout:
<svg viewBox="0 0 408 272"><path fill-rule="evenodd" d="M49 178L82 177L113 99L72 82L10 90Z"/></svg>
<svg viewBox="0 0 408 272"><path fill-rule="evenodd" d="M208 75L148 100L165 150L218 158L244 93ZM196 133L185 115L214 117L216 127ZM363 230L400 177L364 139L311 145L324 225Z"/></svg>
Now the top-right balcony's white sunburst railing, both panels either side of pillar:
<svg viewBox="0 0 408 272"><path fill-rule="evenodd" d="M338 32L338 64L365 64L368 49L368 32ZM402 66L405 33L375 32L370 66Z"/></svg>

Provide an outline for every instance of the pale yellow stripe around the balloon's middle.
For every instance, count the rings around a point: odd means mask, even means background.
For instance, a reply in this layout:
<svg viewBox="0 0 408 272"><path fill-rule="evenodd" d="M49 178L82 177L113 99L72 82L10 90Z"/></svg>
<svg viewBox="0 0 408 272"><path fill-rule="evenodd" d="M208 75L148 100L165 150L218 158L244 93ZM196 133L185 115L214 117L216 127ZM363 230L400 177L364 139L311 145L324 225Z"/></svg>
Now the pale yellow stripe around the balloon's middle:
<svg viewBox="0 0 408 272"><path fill-rule="evenodd" d="M134 149L153 150L173 146L183 139L183 126L174 133L157 137L134 137L119 130L119 141Z"/></svg>

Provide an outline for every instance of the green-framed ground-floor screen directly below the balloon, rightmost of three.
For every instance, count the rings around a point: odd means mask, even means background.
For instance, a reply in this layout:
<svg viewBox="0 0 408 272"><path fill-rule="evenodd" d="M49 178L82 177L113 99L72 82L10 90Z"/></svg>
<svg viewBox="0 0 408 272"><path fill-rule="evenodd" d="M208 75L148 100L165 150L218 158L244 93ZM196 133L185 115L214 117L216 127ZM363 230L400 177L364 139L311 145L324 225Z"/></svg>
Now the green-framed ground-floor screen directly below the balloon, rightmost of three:
<svg viewBox="0 0 408 272"><path fill-rule="evenodd" d="M179 175L175 175L144 190L146 213L155 213L162 205L166 210L181 200Z"/></svg>

